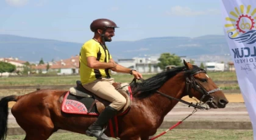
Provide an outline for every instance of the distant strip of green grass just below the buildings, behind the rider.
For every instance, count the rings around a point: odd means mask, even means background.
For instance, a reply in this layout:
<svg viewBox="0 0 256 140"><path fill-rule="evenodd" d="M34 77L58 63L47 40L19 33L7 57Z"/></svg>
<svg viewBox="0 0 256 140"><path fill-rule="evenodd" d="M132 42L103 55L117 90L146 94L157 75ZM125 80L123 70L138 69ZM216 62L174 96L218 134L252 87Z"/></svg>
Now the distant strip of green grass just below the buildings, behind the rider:
<svg viewBox="0 0 256 140"><path fill-rule="evenodd" d="M143 79L148 79L154 74L143 74ZM235 72L208 72L208 76L217 80L236 80ZM133 79L129 74L112 75L116 82L130 83ZM2 77L0 78L0 86L15 86L15 85L74 85L76 80L80 80L79 75L72 76L55 76L55 77ZM226 88L238 88L236 85L229 85Z"/></svg>

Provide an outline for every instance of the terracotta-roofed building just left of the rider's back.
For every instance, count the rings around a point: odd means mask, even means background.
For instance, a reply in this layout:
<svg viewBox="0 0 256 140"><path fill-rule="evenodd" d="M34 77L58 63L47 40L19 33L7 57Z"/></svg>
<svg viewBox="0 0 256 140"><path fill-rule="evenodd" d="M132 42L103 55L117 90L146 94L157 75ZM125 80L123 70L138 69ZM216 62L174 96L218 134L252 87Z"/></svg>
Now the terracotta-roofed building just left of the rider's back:
<svg viewBox="0 0 256 140"><path fill-rule="evenodd" d="M79 55L74 57L72 56L71 58L65 60L49 62L44 65L35 65L32 66L32 69L36 73L43 74L50 71L55 71L59 75L79 74Z"/></svg>

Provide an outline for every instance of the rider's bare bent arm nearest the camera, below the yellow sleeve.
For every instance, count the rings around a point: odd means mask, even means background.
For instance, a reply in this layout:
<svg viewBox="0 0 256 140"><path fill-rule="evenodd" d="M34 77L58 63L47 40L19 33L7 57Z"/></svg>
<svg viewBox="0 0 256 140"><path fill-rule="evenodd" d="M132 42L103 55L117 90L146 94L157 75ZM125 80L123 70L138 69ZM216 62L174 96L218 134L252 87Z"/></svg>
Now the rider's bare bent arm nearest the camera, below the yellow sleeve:
<svg viewBox="0 0 256 140"><path fill-rule="evenodd" d="M93 69L115 68L116 63L105 63L97 61L96 57L87 57L87 66Z"/></svg>

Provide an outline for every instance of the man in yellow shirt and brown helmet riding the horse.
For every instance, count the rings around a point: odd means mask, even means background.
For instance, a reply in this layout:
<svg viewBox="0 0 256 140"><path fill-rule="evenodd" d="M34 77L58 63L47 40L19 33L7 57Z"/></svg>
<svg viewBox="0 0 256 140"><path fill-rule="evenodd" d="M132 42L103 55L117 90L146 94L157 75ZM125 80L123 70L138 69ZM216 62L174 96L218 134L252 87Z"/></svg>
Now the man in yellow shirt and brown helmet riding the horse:
<svg viewBox="0 0 256 140"><path fill-rule="evenodd" d="M105 45L105 41L112 41L117 27L110 19L94 20L90 25L94 37L85 42L80 49L80 80L82 85L96 96L111 102L99 114L97 121L87 130L87 135L96 138L99 138L108 120L126 105L126 99L112 86L114 79L110 76L110 69L115 72L134 75L135 79L142 78L142 75L135 69L116 64ZM104 134L101 138L108 139Z"/></svg>

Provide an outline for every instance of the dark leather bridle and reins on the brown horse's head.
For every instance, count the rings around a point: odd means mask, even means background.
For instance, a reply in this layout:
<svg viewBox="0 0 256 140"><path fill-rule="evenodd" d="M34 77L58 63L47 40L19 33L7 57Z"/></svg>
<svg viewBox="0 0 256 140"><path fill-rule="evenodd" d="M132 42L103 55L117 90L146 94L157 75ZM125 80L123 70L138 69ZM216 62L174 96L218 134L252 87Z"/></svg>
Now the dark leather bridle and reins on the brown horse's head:
<svg viewBox="0 0 256 140"><path fill-rule="evenodd" d="M189 70L188 70L188 71L189 71ZM186 71L185 71L185 72L186 72ZM185 78L185 79L186 79L186 83L185 83L185 84L186 84L186 85L185 85L185 93L187 93L190 98L193 97L193 95L190 93L191 88L193 88L194 90L196 90L196 91L198 91L199 93L203 94L203 96L202 96L201 99L200 99L200 102L199 102L199 103L197 102L196 105L193 104L192 102L189 103L189 102L187 102L187 101L185 101L185 100L177 99L177 98L175 98L175 97L168 96L168 95L166 95L166 94L164 94L164 93L161 93L160 91L157 91L157 93L160 94L160 95L162 95L162 96L164 96L164 97L167 97L168 99L174 99L174 100L178 100L179 102L185 103L185 104L189 105L188 107L194 107L194 108L198 108L198 109L200 109L200 110L209 110L210 108L208 108L207 106L206 106L206 108L205 108L205 107L202 107L202 105L204 105L204 103L202 102L202 100L204 100L205 97L210 96L210 97L209 97L209 100L207 100L207 102L205 102L205 104L206 104L206 105L209 105L209 103L213 103L213 98L214 98L214 97L212 97L210 94L211 94L211 93L215 93L216 91L219 91L219 90L221 90L221 89L220 89L220 88L216 88L216 89L213 89L213 90L211 90L211 91L206 91L206 89L204 88L204 86L202 86L200 83L198 83L198 82L196 81L196 79L194 78L194 75L199 74L199 73L205 73L205 74L206 74L206 71L204 71L204 69L201 69L200 71L193 72L192 74L187 75L186 78Z"/></svg>

